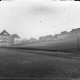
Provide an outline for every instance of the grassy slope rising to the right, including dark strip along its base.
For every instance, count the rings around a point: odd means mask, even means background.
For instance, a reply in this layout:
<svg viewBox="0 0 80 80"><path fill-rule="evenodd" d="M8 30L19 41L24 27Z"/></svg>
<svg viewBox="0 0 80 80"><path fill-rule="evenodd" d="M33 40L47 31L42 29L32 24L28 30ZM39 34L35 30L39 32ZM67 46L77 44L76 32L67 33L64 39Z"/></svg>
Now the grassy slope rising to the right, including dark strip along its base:
<svg viewBox="0 0 80 80"><path fill-rule="evenodd" d="M80 53L80 40L77 37L70 37L63 40L48 41L36 44L29 44L25 46L13 47L23 50L42 50L42 51L61 51Z"/></svg>

